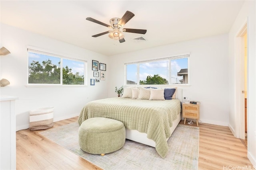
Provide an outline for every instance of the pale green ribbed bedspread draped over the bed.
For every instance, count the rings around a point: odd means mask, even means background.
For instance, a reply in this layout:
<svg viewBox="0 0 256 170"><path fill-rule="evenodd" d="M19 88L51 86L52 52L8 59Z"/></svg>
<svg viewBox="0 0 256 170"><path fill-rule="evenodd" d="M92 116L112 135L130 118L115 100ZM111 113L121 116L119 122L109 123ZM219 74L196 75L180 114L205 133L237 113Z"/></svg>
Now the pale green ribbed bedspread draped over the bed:
<svg viewBox="0 0 256 170"><path fill-rule="evenodd" d="M147 133L156 143L156 151L162 158L168 152L166 139L171 136L172 121L181 111L180 100L136 100L130 98L106 98L89 102L82 109L78 124L92 117L107 117L124 123L130 130Z"/></svg>

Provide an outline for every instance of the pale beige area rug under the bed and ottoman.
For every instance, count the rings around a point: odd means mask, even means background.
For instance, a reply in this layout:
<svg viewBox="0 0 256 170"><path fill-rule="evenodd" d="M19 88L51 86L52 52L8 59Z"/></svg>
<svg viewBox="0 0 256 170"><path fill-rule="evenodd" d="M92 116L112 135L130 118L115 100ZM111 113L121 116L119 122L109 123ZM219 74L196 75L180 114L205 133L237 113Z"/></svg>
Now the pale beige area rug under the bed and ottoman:
<svg viewBox="0 0 256 170"><path fill-rule="evenodd" d="M199 128L179 124L168 139L169 151L162 158L154 147L126 139L124 147L109 154L88 154L78 144L78 123L40 132L58 145L105 170L198 169Z"/></svg>

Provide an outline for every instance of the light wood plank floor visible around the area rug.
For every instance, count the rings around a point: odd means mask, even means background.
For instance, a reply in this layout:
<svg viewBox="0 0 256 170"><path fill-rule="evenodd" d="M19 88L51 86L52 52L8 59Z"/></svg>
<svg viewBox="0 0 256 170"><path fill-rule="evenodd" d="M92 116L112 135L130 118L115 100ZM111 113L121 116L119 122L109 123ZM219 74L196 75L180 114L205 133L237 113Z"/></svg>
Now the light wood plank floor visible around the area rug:
<svg viewBox="0 0 256 170"><path fill-rule="evenodd" d="M77 121L77 117L58 121L54 123L54 127L75 121ZM180 123L184 122L181 121ZM189 126L196 126L196 124ZM252 164L247 158L246 148L240 139L236 139L232 135L228 127L210 124L199 124L199 127L198 169L228 170L230 169L229 166L251 166L252 168ZM100 169L80 156L41 136L38 132L40 131L30 131L29 129L16 132L17 170Z"/></svg>

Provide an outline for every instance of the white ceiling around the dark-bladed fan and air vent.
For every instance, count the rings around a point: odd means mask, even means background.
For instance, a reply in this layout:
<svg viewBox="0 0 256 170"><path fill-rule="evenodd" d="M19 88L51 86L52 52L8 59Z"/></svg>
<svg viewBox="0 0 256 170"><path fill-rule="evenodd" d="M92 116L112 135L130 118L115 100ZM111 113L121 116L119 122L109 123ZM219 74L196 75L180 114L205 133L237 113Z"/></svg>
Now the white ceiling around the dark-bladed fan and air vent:
<svg viewBox="0 0 256 170"><path fill-rule="evenodd" d="M228 33L244 1L0 1L1 22L45 35L78 47L110 56ZM124 28L147 29L146 34L124 32L126 42L92 35L108 27L87 21L87 17L109 24L129 10L135 16ZM135 41L136 37L146 41ZM117 43L117 45L114 45Z"/></svg>

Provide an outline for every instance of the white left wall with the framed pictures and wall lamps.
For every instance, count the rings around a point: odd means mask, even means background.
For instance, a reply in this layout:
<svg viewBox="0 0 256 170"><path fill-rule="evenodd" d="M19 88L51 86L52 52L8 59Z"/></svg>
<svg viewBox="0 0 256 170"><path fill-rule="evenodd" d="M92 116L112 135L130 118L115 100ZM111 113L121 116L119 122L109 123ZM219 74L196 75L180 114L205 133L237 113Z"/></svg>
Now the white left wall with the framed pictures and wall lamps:
<svg viewBox="0 0 256 170"><path fill-rule="evenodd" d="M1 95L19 98L16 102L16 130L29 127L29 111L32 109L54 106L54 121L58 121L79 115L82 107L89 101L108 96L105 88L108 78L90 86L90 78L93 78L92 60L106 63L108 68L108 57L5 24L1 24L0 33L1 47L4 46L11 52L0 57L0 77L10 81L10 85L1 87L0 92ZM26 87L27 45L88 61L88 87Z"/></svg>

